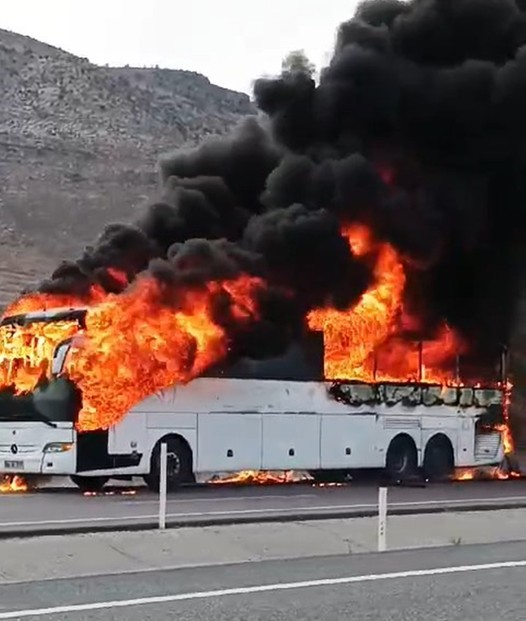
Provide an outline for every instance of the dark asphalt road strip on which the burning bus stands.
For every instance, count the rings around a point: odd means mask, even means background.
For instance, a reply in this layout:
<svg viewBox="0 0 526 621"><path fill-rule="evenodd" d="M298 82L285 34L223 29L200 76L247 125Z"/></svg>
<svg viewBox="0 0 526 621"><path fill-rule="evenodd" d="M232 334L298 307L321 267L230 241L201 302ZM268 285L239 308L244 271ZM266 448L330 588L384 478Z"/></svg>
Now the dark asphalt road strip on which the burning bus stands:
<svg viewBox="0 0 526 621"><path fill-rule="evenodd" d="M83 496L41 492L1 497L0 537L154 527L158 497L141 490ZM339 518L377 513L377 485L343 487L276 485L209 486L170 495L167 524L207 525L247 521ZM391 487L391 514L526 507L526 481L458 482L427 487Z"/></svg>

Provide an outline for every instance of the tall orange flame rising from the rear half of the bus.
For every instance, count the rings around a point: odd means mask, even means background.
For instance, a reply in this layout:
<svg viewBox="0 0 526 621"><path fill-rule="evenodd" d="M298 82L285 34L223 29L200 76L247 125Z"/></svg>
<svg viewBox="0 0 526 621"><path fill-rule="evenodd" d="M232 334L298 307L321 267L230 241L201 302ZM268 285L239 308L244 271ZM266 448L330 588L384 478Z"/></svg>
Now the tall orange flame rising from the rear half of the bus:
<svg viewBox="0 0 526 621"><path fill-rule="evenodd" d="M362 381L426 381L445 383L455 379L445 362L462 350L460 339L446 325L435 338L416 345L397 336L404 316L404 265L388 243L377 242L363 225L344 227L353 253L375 260L375 284L358 303L340 311L316 309L309 313L313 330L325 337L325 375L331 379ZM412 320L414 321L414 319Z"/></svg>

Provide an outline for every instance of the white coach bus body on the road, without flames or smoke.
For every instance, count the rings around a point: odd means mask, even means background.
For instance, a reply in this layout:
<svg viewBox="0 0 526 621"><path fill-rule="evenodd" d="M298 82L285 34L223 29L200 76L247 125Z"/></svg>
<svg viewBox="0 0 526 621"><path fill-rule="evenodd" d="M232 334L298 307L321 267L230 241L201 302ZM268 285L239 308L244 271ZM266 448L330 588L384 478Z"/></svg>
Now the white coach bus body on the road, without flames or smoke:
<svg viewBox="0 0 526 621"><path fill-rule="evenodd" d="M85 314L29 313L0 329L67 321L82 332ZM70 336L36 387L0 392L0 480L67 475L95 491L110 478L142 476L158 490L162 442L170 489L205 473L296 470L327 480L379 469L400 480L423 470L443 479L503 462L504 376L477 386L327 381L318 337L280 358L224 364L149 396L110 429L79 432L82 394L64 373Z"/></svg>

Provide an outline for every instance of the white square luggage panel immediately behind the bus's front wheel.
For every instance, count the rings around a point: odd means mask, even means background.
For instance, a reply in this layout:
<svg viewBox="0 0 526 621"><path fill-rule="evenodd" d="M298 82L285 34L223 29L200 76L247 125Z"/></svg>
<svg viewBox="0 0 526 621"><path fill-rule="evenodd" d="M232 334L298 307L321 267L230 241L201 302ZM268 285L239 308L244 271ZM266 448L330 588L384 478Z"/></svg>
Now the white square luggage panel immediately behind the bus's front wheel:
<svg viewBox="0 0 526 621"><path fill-rule="evenodd" d="M197 472L261 468L261 414L198 415Z"/></svg>

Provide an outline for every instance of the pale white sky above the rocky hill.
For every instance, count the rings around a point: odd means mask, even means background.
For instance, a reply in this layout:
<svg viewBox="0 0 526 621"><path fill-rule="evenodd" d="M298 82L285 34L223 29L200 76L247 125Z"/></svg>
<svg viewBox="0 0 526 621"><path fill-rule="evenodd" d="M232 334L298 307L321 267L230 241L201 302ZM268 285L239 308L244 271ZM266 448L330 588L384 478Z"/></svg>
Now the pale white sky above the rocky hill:
<svg viewBox="0 0 526 621"><path fill-rule="evenodd" d="M266 4L266 7L265 7ZM104 65L188 69L251 92L303 49L326 64L357 0L3 0L0 27Z"/></svg>

